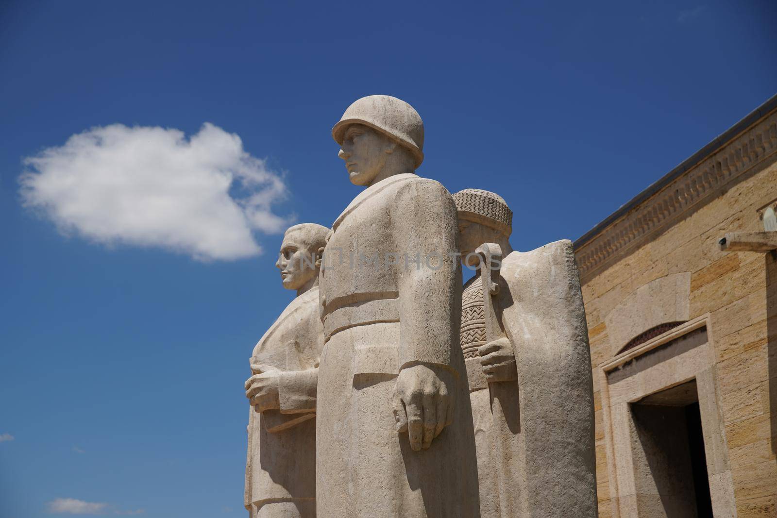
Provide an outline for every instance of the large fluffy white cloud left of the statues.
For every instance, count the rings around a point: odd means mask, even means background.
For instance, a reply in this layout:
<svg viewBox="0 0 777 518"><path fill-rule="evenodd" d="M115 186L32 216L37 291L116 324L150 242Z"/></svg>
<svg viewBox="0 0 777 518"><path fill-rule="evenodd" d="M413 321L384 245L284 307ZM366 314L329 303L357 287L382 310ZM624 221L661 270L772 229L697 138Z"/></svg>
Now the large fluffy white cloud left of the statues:
<svg viewBox="0 0 777 518"><path fill-rule="evenodd" d="M261 251L253 231L290 223L272 210L287 196L281 176L211 123L189 139L162 127L93 127L24 164L26 207L105 245L240 259Z"/></svg>

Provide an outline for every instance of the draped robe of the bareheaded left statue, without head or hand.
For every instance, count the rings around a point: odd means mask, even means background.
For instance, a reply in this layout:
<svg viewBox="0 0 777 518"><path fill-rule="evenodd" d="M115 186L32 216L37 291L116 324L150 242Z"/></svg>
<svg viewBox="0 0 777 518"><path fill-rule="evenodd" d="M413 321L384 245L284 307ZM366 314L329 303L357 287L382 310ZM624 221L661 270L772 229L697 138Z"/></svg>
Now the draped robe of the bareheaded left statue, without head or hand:
<svg viewBox="0 0 777 518"><path fill-rule="evenodd" d="M252 365L280 370L280 410L249 414L246 509L252 518L315 516L315 395L323 328L319 289L294 298L256 344ZM254 373L256 374L256 373Z"/></svg>

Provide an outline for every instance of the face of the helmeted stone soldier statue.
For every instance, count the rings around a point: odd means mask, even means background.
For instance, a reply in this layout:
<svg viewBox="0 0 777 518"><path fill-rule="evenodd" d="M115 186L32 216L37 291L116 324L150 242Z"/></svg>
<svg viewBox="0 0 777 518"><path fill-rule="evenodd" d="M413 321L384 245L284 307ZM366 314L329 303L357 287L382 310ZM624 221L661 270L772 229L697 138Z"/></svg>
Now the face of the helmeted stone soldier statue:
<svg viewBox="0 0 777 518"><path fill-rule="evenodd" d="M345 161L351 183L368 186L383 169L393 148L395 143L384 134L363 124L351 124L337 156Z"/></svg>

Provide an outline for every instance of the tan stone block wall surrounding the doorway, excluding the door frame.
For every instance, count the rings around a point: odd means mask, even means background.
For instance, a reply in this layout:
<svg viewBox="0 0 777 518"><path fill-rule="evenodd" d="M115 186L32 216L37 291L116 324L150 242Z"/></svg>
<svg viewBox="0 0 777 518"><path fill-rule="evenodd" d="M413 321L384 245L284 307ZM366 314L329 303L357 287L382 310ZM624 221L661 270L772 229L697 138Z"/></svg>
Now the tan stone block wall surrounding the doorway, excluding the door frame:
<svg viewBox="0 0 777 518"><path fill-rule="evenodd" d="M764 127L774 130L775 121L777 111L754 123L748 131L763 133ZM730 145L742 142L747 142L747 131ZM753 142L758 142L758 138ZM754 144L749 145L752 151ZM625 492L620 482L611 480L611 475L618 472L612 466L622 460L608 458L612 451L608 440L613 439L607 438L610 432L606 428L618 426L618 415L608 418L603 408L615 402L605 400L601 393L601 384L605 383L601 366L618 354L629 339L660 323L659 320L671 320L667 315L676 313L674 308L668 311L655 304L664 299L666 304L668 298L675 304L674 294L662 297L667 294L663 283L673 275L683 274L690 276L685 301L688 309L687 315L678 320L709 315L709 384L715 387L717 408L713 411L719 414L722 429L716 440L723 450L721 458L727 457L725 465L721 465L720 481L713 481L710 473L713 502L716 492L722 498L722 492L733 491L733 506L740 518L777 516L777 255L722 252L717 245L726 232L762 231L758 211L777 203L777 148L771 141L763 140L757 151L740 158L747 167L740 166L738 177L732 173L726 182L710 183L703 203L695 203L678 214L661 216L660 224L653 229L633 231L641 237L623 245L621 250L613 248L608 252L600 244L607 240L628 241L622 232L612 229L648 224L639 207L653 207L657 197L665 196L664 191L644 200L611 227L603 228L604 237L591 238L576 249L578 262L592 265L589 269L584 264L580 266L584 272L582 290L594 368L600 516L642 516L644 511L639 509L652 505L648 500L653 498ZM711 156L726 153L723 146ZM707 167L706 163L698 167ZM714 167L710 169L713 170ZM698 175L694 168L684 174ZM594 250L594 246L600 248ZM646 293L651 285L658 289ZM704 431L705 435L709 433ZM713 459L707 461L708 466L712 465Z"/></svg>

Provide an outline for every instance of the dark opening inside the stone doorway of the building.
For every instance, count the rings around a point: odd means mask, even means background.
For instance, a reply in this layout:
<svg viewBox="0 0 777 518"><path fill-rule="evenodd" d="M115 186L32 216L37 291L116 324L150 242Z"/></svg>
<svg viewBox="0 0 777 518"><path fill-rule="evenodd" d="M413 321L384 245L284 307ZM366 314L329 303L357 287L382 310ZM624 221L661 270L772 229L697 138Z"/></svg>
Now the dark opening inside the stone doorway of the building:
<svg viewBox="0 0 777 518"><path fill-rule="evenodd" d="M632 403L639 516L712 518L696 381Z"/></svg>

